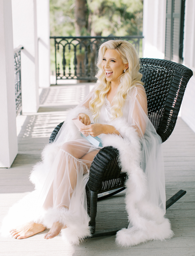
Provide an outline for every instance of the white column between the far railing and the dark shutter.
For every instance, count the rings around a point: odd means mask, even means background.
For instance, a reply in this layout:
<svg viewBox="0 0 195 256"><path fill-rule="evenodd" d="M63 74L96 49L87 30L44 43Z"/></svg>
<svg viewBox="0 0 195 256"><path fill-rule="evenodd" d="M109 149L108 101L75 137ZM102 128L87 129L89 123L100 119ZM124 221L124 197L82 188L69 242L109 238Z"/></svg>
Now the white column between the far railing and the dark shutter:
<svg viewBox="0 0 195 256"><path fill-rule="evenodd" d="M165 57L166 0L144 0L143 57Z"/></svg>

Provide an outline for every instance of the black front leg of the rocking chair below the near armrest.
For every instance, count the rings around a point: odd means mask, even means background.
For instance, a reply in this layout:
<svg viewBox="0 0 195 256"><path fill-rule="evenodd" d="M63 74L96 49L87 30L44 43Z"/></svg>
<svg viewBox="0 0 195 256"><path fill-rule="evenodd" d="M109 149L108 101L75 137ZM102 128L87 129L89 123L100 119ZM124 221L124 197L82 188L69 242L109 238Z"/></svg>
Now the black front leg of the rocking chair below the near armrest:
<svg viewBox="0 0 195 256"><path fill-rule="evenodd" d="M90 222L91 233L95 233L95 217L97 214L97 202L98 202L98 192L89 190L90 192Z"/></svg>

